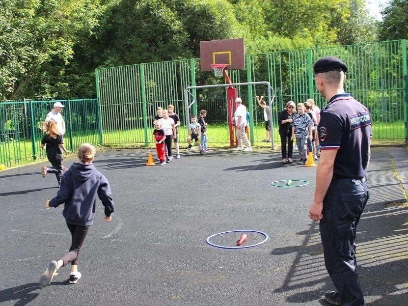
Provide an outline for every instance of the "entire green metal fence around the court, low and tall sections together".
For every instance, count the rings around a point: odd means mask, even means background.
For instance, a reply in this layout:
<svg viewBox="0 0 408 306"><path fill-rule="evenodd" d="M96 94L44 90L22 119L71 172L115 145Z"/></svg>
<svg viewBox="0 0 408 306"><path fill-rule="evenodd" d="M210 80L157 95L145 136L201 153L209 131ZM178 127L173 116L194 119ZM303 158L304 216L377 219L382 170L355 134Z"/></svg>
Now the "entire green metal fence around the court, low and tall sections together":
<svg viewBox="0 0 408 306"><path fill-rule="evenodd" d="M407 42L396 40L351 46L246 55L245 70L230 70L232 83L268 81L275 92L272 107L274 128L277 113L287 101L304 102L313 98L326 105L318 93L312 65L321 56L342 58L349 66L346 90L372 113L373 139L401 139L407 142L408 76ZM74 150L82 142L93 144L153 144L153 118L156 108L173 104L181 119L180 138L186 139L187 116L207 110L206 121L225 129L211 142L228 145L226 93L224 87L191 91L195 99L185 109L187 86L221 84L223 78L199 70L199 59L145 63L97 69L97 99L64 100L67 125L65 142ZM266 96L266 86L238 87L238 94L251 113L252 142L265 135L263 111L256 96ZM13 100L0 103L0 163L19 165L45 158L39 149L40 124L55 101ZM211 134L211 133L209 133ZM275 138L278 140L278 138Z"/></svg>

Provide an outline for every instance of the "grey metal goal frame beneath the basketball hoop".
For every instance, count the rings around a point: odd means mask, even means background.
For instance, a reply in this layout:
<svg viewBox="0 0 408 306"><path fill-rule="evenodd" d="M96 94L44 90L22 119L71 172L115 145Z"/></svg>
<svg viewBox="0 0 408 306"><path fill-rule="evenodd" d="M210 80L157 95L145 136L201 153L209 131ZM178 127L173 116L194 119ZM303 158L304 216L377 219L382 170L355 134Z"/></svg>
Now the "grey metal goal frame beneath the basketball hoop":
<svg viewBox="0 0 408 306"><path fill-rule="evenodd" d="M272 136L272 141L271 141L271 148L272 150L275 149L275 139L274 139L274 132L273 132L273 114L272 114L272 103L275 98L275 91L272 89L271 83L267 81L263 82L248 82L248 83L231 83L231 84L213 84L213 85L199 85L199 86L187 86L185 89L185 106L186 110L189 110L189 93L190 89L203 89L203 88L214 88L214 87L228 87L228 86L245 86L245 85L267 85L268 87L268 102L269 102L269 111L270 111L270 117L271 117L271 136ZM190 118L187 116L187 129L189 128L190 125Z"/></svg>

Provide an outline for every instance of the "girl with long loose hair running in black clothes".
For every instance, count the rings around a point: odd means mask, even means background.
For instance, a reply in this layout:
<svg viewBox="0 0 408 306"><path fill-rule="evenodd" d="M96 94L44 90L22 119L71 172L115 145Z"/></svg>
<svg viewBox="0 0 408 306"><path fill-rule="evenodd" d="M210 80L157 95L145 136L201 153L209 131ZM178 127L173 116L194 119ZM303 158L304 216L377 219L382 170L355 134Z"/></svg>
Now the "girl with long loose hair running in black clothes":
<svg viewBox="0 0 408 306"><path fill-rule="evenodd" d="M55 173L56 180L58 182L58 187L61 183L62 175L62 151L68 154L69 151L64 147L64 139L62 135L58 132L57 123L55 120L51 119L46 122L44 126L45 135L41 140L41 148L47 152L48 161L51 163L52 167L42 168L42 176L45 177L47 173Z"/></svg>

